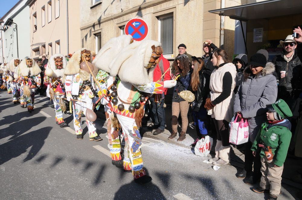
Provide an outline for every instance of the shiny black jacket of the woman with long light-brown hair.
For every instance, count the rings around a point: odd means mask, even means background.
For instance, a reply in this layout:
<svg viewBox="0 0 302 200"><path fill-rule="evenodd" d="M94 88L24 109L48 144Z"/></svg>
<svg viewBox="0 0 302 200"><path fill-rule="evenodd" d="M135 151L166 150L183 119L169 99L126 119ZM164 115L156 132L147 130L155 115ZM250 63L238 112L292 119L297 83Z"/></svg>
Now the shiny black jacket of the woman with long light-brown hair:
<svg viewBox="0 0 302 200"><path fill-rule="evenodd" d="M192 109L196 112L199 111L200 108L204 107L205 100L210 93L210 76L211 70L204 68L199 71L199 86L197 91L193 91L190 86L191 92L195 95L195 100L192 102Z"/></svg>

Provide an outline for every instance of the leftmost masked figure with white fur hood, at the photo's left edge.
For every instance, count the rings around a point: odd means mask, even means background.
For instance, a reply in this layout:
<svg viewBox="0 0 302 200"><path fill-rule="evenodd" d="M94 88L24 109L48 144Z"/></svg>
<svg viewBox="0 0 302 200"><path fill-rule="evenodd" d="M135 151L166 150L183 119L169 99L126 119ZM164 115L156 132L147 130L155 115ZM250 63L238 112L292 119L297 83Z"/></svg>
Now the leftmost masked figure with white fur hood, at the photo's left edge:
<svg viewBox="0 0 302 200"><path fill-rule="evenodd" d="M8 84L10 85L11 92L13 94L14 104L18 103L20 100L20 83L19 75L17 73L19 63L19 58L13 58L9 61L7 66Z"/></svg>

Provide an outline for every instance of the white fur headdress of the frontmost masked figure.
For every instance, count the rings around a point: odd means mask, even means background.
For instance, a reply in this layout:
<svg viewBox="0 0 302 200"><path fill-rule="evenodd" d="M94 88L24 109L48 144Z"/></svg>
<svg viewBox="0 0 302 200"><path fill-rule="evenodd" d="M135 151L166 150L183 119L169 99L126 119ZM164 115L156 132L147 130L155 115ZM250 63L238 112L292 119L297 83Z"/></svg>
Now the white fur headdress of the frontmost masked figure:
<svg viewBox="0 0 302 200"><path fill-rule="evenodd" d="M157 47L161 46L161 43L143 40L123 48L109 65L110 75L113 77L118 75L120 80L137 85L152 82L155 67L150 68L149 73L145 67L149 64L153 45Z"/></svg>

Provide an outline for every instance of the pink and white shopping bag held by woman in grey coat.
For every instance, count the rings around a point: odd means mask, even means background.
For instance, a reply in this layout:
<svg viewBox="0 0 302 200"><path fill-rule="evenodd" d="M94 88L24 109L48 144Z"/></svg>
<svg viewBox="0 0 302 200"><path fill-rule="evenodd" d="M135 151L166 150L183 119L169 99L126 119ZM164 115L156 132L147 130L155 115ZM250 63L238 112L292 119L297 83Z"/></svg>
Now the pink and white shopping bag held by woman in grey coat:
<svg viewBox="0 0 302 200"><path fill-rule="evenodd" d="M240 145L249 141L249 123L247 120L241 119L237 122L238 115L235 120L231 122L230 143Z"/></svg>

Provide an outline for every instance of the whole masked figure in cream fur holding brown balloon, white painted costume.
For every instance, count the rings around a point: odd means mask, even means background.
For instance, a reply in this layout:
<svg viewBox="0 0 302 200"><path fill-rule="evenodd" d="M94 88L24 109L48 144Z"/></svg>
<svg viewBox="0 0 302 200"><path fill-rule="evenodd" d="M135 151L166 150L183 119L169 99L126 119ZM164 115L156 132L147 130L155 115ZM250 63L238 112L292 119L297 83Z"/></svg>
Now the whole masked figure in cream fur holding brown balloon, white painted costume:
<svg viewBox="0 0 302 200"><path fill-rule="evenodd" d="M88 127L89 139L99 141L102 140L96 133L94 120L89 120L90 114L93 112L92 100L97 95L94 88L94 80L91 73L87 69L86 62L92 67L90 51L82 48L72 55L68 61L64 74L66 98L72 104L73 109L73 125L76 131L77 139L83 139L82 135L82 113L86 116L86 124ZM92 70L92 69L91 69ZM93 70L92 70L93 71ZM89 114L90 113L90 114Z"/></svg>

